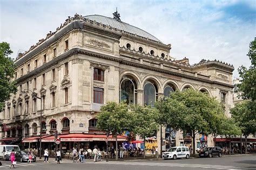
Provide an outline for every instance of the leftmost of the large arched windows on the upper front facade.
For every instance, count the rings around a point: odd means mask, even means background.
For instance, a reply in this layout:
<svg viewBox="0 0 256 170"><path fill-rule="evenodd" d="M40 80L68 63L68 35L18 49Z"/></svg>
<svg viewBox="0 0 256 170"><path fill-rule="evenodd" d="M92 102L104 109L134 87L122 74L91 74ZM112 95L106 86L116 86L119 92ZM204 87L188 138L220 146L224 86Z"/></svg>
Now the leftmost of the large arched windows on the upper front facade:
<svg viewBox="0 0 256 170"><path fill-rule="evenodd" d="M130 76L123 77L120 83L120 102L127 104L137 103L137 84Z"/></svg>

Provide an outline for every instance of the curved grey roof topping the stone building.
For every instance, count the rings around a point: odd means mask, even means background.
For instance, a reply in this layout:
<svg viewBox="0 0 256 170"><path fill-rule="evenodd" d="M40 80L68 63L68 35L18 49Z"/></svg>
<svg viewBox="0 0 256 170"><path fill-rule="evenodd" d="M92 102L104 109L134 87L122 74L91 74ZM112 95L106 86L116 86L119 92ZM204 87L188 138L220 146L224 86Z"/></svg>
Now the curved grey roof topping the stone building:
<svg viewBox="0 0 256 170"><path fill-rule="evenodd" d="M98 23L102 23L104 25L109 25L116 29L123 30L123 31L129 32L129 33L132 33L132 34L137 34L138 36L149 38L154 41L160 41L156 37L152 36L150 33L146 32L142 29L139 29L135 26L132 26L130 24L127 24L124 22L118 22L114 18L100 16L100 15L89 15L89 16L84 16L84 18L90 19L90 20L95 20Z"/></svg>

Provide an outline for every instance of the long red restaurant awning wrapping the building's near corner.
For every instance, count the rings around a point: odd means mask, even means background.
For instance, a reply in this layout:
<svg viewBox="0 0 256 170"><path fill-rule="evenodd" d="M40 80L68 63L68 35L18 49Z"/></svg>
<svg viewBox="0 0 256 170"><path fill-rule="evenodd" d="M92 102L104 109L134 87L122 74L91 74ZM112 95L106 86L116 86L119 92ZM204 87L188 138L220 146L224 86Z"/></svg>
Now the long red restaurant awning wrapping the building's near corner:
<svg viewBox="0 0 256 170"><path fill-rule="evenodd" d="M69 133L69 134L60 134L58 135L61 141L105 141L106 135L105 134L90 134L90 133ZM109 141L115 141L116 138L109 136ZM118 135L118 141L125 141L126 137ZM42 142L54 142L55 137L49 136L42 139Z"/></svg>

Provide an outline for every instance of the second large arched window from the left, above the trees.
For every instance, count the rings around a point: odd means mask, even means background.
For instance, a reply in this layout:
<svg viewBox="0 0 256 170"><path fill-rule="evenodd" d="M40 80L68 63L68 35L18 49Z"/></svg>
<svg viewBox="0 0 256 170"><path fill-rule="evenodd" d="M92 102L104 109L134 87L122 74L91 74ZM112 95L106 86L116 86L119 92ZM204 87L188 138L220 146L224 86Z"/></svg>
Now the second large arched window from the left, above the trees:
<svg viewBox="0 0 256 170"><path fill-rule="evenodd" d="M158 97L158 89L153 81L146 81L144 85L143 101L146 105L154 105Z"/></svg>

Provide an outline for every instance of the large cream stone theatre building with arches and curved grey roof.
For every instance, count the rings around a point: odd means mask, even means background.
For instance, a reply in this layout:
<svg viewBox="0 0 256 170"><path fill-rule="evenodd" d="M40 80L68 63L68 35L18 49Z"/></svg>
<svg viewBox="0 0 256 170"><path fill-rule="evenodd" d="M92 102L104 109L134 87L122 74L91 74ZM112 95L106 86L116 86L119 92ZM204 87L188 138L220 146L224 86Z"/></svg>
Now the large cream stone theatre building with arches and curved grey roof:
<svg viewBox="0 0 256 170"><path fill-rule="evenodd" d="M117 12L114 18L68 17L55 32L18 56L18 91L6 101L1 114L0 141L38 141L42 111L45 142L52 142L51 135L57 130L59 135L69 136L63 137L63 142L97 143L105 139L105 132L96 129L96 115L103 104L154 104L159 97L186 88L217 97L228 115L233 107L234 67L204 59L190 65L187 58L174 60L170 53L171 44L122 22ZM211 137L200 135L197 145L213 145ZM160 147L159 132L156 138ZM173 133L171 127L163 128L163 138L167 145L191 143L190 137Z"/></svg>

